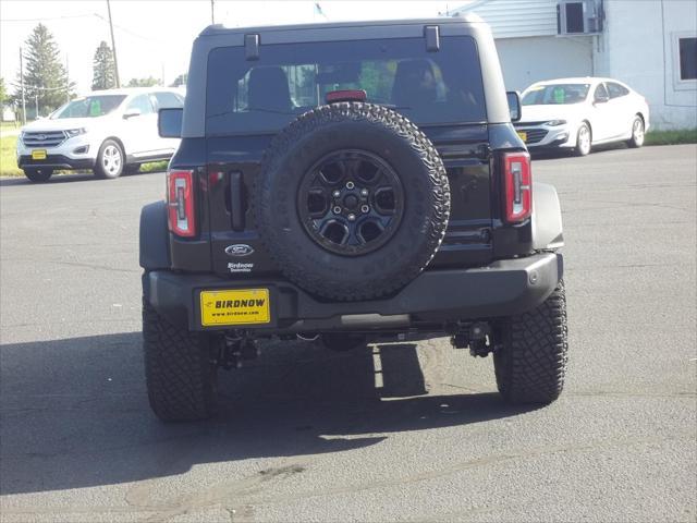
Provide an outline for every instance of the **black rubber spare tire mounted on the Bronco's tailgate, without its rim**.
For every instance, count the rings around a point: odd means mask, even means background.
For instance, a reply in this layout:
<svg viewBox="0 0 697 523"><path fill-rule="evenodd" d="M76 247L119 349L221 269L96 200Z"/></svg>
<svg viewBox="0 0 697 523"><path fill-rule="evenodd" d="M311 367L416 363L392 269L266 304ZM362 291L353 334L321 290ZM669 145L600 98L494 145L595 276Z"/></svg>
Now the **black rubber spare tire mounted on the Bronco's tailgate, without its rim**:
<svg viewBox="0 0 697 523"><path fill-rule="evenodd" d="M323 156L341 149L379 156L404 186L404 214L379 248L342 256L316 243L298 218L302 178ZM386 107L340 102L306 112L266 150L252 205L260 239L285 277L335 301L369 300L412 281L440 246L450 217L443 162L428 137Z"/></svg>

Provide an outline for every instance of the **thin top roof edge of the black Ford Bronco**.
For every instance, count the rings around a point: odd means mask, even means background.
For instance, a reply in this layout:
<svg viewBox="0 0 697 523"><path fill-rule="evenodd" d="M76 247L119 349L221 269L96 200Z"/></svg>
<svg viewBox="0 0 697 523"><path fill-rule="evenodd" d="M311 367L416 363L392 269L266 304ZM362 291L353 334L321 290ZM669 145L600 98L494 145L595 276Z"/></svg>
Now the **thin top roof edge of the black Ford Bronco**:
<svg viewBox="0 0 697 523"><path fill-rule="evenodd" d="M396 19L396 20L376 20L365 21L356 20L348 22L321 22L309 24L294 25L266 25L254 27L227 27L222 24L209 25L199 36L213 36L225 34L248 34L253 32L272 32L272 31L306 31L306 29L332 29L345 27L368 27L382 25L443 25L443 24L480 24L484 21L474 13L461 16L441 16L435 19Z"/></svg>

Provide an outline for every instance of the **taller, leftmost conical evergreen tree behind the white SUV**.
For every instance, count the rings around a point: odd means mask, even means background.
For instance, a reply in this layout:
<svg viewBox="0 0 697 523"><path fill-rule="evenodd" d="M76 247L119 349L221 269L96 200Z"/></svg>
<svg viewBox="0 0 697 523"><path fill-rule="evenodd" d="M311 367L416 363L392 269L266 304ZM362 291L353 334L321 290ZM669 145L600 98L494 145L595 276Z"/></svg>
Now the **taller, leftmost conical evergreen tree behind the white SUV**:
<svg viewBox="0 0 697 523"><path fill-rule="evenodd" d="M61 63L53 35L44 24L38 24L25 42L24 94L28 107L38 96L39 111L48 114L74 95L75 84L70 82ZM17 75L15 99L22 99L22 77Z"/></svg>

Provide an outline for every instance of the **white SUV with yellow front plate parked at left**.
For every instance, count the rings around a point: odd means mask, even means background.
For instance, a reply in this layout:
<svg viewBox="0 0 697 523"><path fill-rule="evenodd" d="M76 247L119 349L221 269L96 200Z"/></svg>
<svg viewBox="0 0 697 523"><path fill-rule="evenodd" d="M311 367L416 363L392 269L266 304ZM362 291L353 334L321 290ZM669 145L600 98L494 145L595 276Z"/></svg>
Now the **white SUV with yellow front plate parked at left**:
<svg viewBox="0 0 697 523"><path fill-rule="evenodd" d="M91 169L99 178L135 172L167 160L179 138L161 138L157 111L180 108L184 96L166 87L95 90L22 127L17 166L33 182L56 169Z"/></svg>

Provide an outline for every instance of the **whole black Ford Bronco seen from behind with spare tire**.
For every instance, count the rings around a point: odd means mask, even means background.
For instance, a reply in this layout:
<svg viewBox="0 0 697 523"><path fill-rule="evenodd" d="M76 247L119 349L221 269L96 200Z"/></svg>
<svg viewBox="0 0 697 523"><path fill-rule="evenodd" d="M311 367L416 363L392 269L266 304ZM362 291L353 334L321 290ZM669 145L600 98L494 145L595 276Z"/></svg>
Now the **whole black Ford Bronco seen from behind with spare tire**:
<svg viewBox="0 0 697 523"><path fill-rule="evenodd" d="M217 369L272 337L449 336L493 354L505 400L555 400L561 214L516 112L477 17L205 29L140 216L155 413L210 416Z"/></svg>

